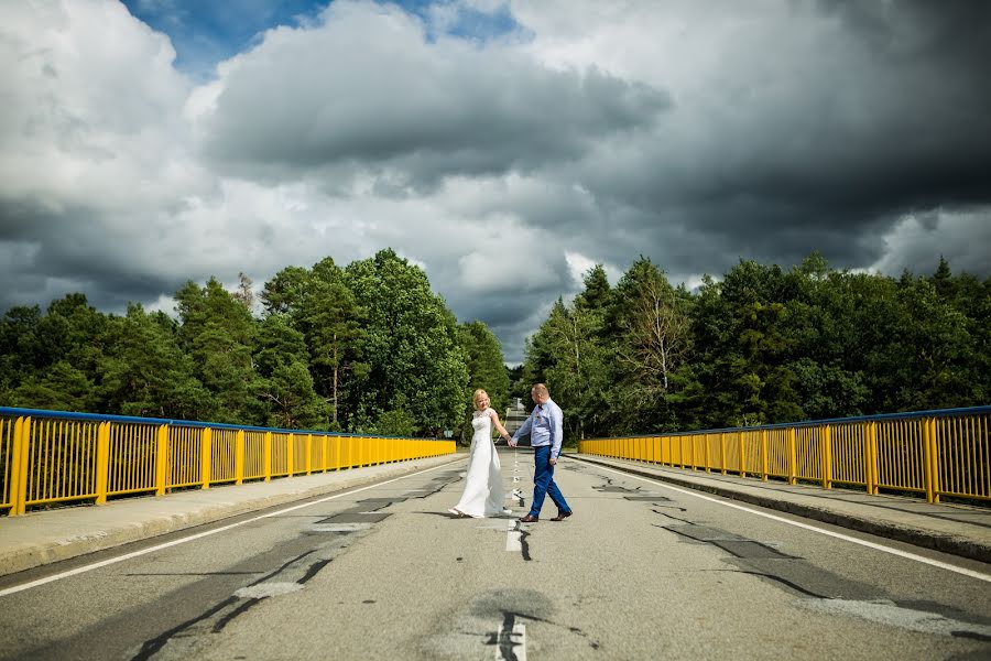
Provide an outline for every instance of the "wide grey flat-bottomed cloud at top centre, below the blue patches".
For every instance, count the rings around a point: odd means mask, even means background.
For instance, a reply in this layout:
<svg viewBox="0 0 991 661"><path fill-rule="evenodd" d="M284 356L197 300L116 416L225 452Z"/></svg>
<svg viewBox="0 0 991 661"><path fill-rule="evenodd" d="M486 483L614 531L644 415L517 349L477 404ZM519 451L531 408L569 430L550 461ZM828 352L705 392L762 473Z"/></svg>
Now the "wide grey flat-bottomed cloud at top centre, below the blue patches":
<svg viewBox="0 0 991 661"><path fill-rule="evenodd" d="M305 37L274 35L231 67L204 121L210 159L254 176L345 165L431 186L579 160L671 105L663 90L595 68L552 71L505 51L426 43L407 15L342 13L331 8Z"/></svg>

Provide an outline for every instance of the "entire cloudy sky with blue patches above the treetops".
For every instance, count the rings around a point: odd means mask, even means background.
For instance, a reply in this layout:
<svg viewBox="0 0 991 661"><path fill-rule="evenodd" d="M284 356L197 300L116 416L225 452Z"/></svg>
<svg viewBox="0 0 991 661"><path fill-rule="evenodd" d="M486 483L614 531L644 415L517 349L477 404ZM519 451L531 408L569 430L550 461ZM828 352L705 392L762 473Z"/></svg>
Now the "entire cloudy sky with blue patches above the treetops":
<svg viewBox="0 0 991 661"><path fill-rule="evenodd" d="M524 338L595 263L991 275L991 3L0 0L0 312L392 247Z"/></svg>

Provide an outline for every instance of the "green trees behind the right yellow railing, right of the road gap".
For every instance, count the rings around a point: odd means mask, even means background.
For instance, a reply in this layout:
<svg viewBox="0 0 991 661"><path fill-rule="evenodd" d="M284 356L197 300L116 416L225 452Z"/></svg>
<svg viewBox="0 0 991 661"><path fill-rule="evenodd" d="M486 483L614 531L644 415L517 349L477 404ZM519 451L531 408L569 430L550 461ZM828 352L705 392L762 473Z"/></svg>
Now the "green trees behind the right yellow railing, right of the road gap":
<svg viewBox="0 0 991 661"><path fill-rule="evenodd" d="M611 286L589 270L526 346L571 438L982 405L991 279L783 270L741 260L694 292L641 258Z"/></svg>

